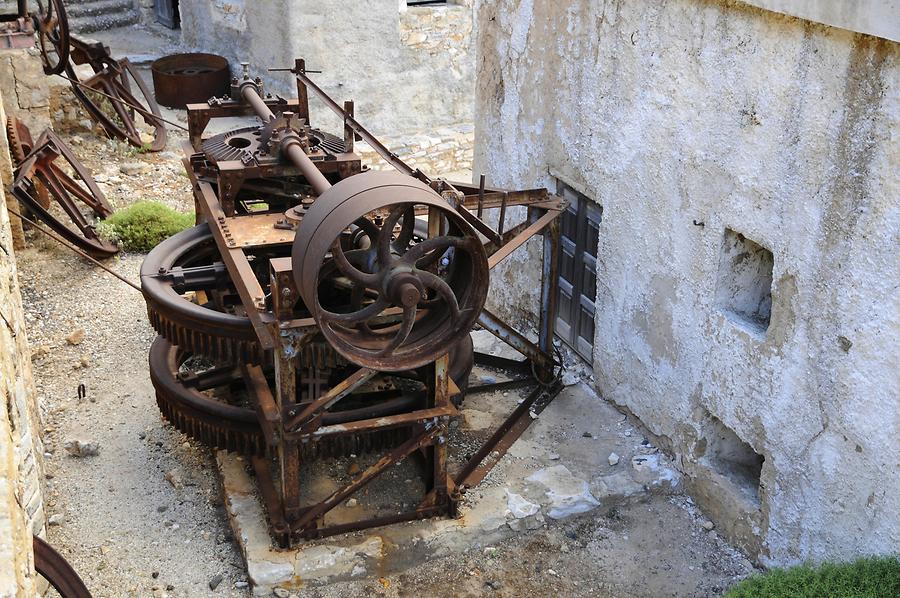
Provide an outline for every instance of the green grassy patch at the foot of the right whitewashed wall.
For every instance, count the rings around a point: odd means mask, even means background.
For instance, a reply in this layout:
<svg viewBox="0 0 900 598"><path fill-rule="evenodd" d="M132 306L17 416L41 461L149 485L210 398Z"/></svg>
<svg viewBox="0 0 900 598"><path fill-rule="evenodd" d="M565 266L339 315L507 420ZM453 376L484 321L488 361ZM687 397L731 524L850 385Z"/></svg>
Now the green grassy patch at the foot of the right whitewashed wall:
<svg viewBox="0 0 900 598"><path fill-rule="evenodd" d="M751 575L725 598L895 598L900 559L867 557L850 563L799 565Z"/></svg>

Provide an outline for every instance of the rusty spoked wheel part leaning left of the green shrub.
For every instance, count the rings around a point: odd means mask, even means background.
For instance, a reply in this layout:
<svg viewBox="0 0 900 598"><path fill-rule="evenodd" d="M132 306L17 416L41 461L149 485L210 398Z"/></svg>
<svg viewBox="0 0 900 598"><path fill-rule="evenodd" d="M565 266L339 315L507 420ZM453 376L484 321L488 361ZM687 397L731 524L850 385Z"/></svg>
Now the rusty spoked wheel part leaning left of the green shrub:
<svg viewBox="0 0 900 598"><path fill-rule="evenodd" d="M11 121L8 130L17 132L20 143L26 137L27 128L21 123ZM43 196L44 192L48 196ZM50 228L94 257L118 253L119 248L101 239L94 226L94 219L106 218L112 208L90 171L50 129L41 134L16 168L12 193Z"/></svg>

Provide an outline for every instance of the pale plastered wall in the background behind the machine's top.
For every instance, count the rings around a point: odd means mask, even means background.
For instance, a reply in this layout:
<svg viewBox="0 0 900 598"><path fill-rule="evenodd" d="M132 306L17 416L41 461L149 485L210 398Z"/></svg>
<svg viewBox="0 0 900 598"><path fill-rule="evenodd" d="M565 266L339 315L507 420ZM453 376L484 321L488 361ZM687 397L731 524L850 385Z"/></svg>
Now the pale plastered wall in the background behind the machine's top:
<svg viewBox="0 0 900 598"><path fill-rule="evenodd" d="M354 100L357 118L373 133L407 139L405 147L389 146L401 157L451 144L443 156L416 158L426 168L471 166L471 136L458 135L471 132L473 119L472 9L465 2L407 8L397 0L204 0L182 3L181 18L186 45L224 55L235 72L249 62L270 91L293 97L293 78L265 69L305 58L307 68L323 71L313 75L316 83L339 103ZM310 107L313 125L340 130L321 102L311 98ZM464 155L456 160L448 149Z"/></svg>

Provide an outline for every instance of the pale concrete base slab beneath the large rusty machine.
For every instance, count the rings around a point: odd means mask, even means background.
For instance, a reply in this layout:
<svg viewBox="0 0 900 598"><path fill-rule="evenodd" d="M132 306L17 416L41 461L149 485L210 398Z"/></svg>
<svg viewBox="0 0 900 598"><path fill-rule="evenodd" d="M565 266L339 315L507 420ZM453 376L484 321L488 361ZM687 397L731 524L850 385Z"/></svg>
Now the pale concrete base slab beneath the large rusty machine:
<svg viewBox="0 0 900 598"><path fill-rule="evenodd" d="M473 372L474 378L488 375L479 368ZM489 434L490 430L482 431L481 426L495 427L516 402L514 394L467 397L467 409L479 413L479 430L471 433ZM457 446L468 442L463 439L466 428L466 422L454 428L459 436ZM453 447L453 435L450 442ZM642 500L650 492L659 492L663 482L669 484L666 488L674 488L669 482L678 477L678 472L646 442L625 415L587 387L570 386L532 423L485 480L465 495L458 519L401 523L310 541L290 550L272 545L249 463L222 451L216 461L248 577L254 592L266 595L275 588L297 590L338 581L377 579L429 558L484 548L514 534L527 534L546 526L548 518L597 508L608 511L623 502ZM616 465L610 465L613 452L619 456ZM648 454L653 455L654 468L636 469L633 461L644 461L633 457ZM323 467L329 468L332 476L344 475L345 465L340 460ZM402 468L396 469L401 469L398 478L408 475ZM409 484L412 480L388 480L387 484L403 485L404 481ZM332 488L331 482L321 480L311 485ZM372 486L368 497L382 491ZM360 496L360 504L353 503L353 508L363 508L369 498ZM338 517L353 515L341 508L344 510Z"/></svg>

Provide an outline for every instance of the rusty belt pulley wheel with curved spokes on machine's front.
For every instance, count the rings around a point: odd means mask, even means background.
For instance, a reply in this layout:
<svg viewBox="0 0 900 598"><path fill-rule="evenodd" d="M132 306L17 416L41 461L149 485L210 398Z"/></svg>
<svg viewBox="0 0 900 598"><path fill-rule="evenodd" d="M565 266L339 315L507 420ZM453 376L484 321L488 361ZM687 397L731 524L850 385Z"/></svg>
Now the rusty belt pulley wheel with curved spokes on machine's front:
<svg viewBox="0 0 900 598"><path fill-rule="evenodd" d="M440 231L413 243L416 211ZM293 274L325 339L381 371L432 362L467 335L484 307L488 266L475 230L412 177L370 172L316 199L294 240Z"/></svg>

